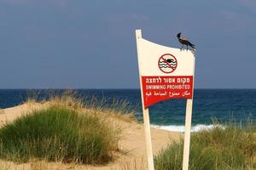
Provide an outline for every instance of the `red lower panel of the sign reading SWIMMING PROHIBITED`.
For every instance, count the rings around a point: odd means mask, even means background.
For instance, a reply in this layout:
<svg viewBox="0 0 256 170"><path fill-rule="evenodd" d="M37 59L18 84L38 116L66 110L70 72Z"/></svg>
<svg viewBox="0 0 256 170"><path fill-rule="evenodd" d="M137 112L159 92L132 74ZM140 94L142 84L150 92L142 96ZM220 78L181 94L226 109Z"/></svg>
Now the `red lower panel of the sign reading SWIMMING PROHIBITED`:
<svg viewBox="0 0 256 170"><path fill-rule="evenodd" d="M193 77L142 77L144 106L166 99L192 99Z"/></svg>

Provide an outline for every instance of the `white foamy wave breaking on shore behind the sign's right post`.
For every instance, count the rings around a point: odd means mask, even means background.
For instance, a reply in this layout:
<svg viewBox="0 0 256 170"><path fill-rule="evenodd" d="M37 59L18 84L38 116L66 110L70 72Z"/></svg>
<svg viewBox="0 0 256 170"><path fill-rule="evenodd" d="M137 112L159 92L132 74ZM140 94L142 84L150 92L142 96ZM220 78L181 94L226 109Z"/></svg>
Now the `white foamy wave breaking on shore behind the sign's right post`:
<svg viewBox="0 0 256 170"><path fill-rule="evenodd" d="M151 127L157 128L157 129L163 129L163 130L167 130L167 131L172 131L172 132L179 132L179 133L183 133L185 132L185 126L182 125L167 125L167 126L160 126L160 125L151 125ZM198 124L195 126L191 127L191 133L196 133L196 132L200 132L201 130L211 130L213 127L221 127L224 128L224 126L222 125L206 125L206 124Z"/></svg>

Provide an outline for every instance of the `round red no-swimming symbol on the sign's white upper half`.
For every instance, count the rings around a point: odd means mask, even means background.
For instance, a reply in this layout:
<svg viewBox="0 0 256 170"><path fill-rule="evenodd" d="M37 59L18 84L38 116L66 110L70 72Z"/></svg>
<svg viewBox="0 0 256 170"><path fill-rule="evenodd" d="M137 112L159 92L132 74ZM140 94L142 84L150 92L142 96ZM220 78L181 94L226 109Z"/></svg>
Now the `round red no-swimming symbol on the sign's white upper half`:
<svg viewBox="0 0 256 170"><path fill-rule="evenodd" d="M171 73L177 68L177 59L172 54L163 54L158 60L158 67L164 73Z"/></svg>

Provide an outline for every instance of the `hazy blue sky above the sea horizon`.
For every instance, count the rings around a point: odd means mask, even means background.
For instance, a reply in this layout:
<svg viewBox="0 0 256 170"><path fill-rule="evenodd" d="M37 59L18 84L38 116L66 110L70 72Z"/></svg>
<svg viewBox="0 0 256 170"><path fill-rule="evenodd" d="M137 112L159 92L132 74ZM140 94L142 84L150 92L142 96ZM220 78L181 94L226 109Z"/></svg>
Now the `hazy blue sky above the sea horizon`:
<svg viewBox="0 0 256 170"><path fill-rule="evenodd" d="M139 88L135 30L197 47L195 88L256 88L256 2L0 0L0 88Z"/></svg>

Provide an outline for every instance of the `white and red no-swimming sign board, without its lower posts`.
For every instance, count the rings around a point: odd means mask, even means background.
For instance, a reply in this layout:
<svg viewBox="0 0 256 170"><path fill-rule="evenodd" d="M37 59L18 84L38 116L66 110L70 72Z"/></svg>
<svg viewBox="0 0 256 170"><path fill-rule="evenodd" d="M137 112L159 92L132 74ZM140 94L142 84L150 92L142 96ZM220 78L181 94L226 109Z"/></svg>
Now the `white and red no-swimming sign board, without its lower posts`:
<svg viewBox="0 0 256 170"><path fill-rule="evenodd" d="M195 54L137 38L144 108L166 99L192 99Z"/></svg>

